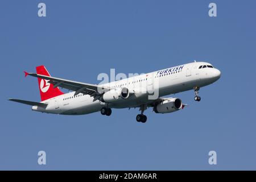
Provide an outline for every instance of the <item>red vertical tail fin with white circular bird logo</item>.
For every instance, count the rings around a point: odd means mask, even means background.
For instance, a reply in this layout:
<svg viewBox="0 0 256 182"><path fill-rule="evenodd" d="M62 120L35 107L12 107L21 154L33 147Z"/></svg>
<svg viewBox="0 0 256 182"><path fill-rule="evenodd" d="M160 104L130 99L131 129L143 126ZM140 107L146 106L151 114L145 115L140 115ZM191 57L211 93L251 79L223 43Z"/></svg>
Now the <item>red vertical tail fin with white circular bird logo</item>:
<svg viewBox="0 0 256 182"><path fill-rule="evenodd" d="M49 75L49 72L47 71L46 67L44 67L44 65L36 67L36 73L40 75L51 76ZM64 94L63 92L60 91L59 88L57 87L53 88L53 85L48 83L48 80L38 78L38 84L39 84L41 101Z"/></svg>

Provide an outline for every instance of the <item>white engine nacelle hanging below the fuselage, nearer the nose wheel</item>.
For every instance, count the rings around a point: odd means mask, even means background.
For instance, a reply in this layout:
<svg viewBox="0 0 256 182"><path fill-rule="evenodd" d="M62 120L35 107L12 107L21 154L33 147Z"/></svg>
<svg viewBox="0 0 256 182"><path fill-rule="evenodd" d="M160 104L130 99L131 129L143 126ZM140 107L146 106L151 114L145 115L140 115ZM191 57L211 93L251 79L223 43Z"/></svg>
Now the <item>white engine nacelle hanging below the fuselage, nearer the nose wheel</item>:
<svg viewBox="0 0 256 182"><path fill-rule="evenodd" d="M172 113L182 108L182 102L179 98L170 98L154 107L155 113Z"/></svg>

